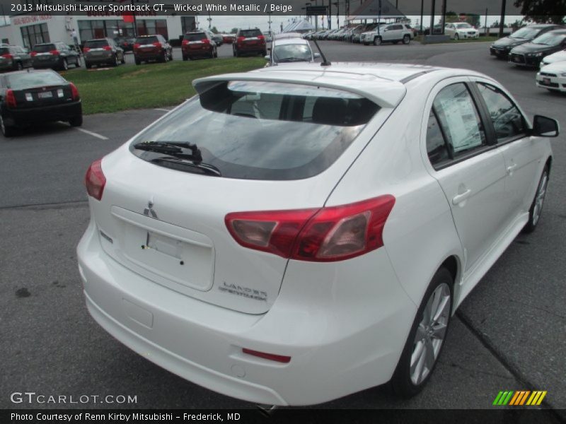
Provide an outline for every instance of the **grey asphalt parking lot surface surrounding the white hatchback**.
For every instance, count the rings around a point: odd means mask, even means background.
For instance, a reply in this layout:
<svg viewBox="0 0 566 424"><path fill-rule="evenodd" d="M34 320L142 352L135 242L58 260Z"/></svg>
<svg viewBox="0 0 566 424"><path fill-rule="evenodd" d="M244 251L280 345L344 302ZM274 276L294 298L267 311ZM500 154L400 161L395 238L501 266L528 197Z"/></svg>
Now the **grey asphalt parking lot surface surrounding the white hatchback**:
<svg viewBox="0 0 566 424"><path fill-rule="evenodd" d="M530 117L543 114L566 125L566 95L536 88L533 70L493 59L485 43L320 46L330 61L475 69L503 83ZM231 46L219 48L219 57L231 55ZM133 63L132 54L127 62ZM51 124L13 139L0 136L0 408L253 407L129 351L100 329L83 302L75 248L88 223L84 172L164 113L89 115L80 128ZM538 229L517 237L463 302L422 394L399 400L377 387L318 408L491 408L500 390L538 389L548 391L543 406L566 420L565 142L564 133L552 141L553 170ZM18 391L129 395L137 403L14 404L11 394Z"/></svg>

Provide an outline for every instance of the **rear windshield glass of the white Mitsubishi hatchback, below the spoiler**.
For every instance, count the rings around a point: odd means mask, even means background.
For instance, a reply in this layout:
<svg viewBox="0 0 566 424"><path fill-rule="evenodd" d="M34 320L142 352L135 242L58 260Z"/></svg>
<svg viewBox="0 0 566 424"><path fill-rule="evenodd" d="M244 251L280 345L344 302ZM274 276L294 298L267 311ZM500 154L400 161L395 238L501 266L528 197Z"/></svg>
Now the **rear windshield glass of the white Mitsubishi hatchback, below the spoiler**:
<svg viewBox="0 0 566 424"><path fill-rule="evenodd" d="M143 131L130 149L151 161L163 153L137 150L134 144L194 143L202 163L218 168L222 177L303 179L332 165L378 110L373 102L340 90L222 82Z"/></svg>

